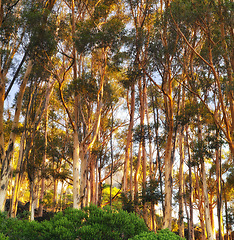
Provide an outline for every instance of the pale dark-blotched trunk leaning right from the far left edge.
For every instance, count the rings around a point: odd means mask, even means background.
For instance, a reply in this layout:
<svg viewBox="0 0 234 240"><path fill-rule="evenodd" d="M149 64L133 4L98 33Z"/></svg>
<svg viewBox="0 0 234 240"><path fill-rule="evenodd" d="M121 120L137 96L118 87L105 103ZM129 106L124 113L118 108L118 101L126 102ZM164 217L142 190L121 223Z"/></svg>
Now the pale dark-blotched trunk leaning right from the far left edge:
<svg viewBox="0 0 234 240"><path fill-rule="evenodd" d="M16 131L15 130L18 127L23 96L24 96L24 92L25 92L26 84L28 82L29 75L32 70L32 66L33 66L33 63L31 60L29 60L26 72L24 74L23 81L20 86L18 98L17 98L15 116L14 116L14 121L12 124L12 131L10 133L10 139L9 139L7 151L5 154L2 154L2 157L3 157L1 159L2 170L1 170L1 176L0 176L0 210L1 211L4 211L7 188L8 188L8 181L9 181L9 177L10 177L10 174L12 171L12 156L14 153L14 144L15 144L15 139L16 139Z"/></svg>

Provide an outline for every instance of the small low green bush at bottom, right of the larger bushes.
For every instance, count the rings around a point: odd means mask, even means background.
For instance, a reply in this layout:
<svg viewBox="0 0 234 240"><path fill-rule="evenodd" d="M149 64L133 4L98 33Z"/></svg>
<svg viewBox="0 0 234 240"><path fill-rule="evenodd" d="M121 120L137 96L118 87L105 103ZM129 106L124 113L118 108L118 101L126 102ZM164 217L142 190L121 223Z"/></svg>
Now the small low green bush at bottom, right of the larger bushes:
<svg viewBox="0 0 234 240"><path fill-rule="evenodd" d="M162 229L157 233L143 232L129 240L182 240L182 238L171 232L169 229Z"/></svg>

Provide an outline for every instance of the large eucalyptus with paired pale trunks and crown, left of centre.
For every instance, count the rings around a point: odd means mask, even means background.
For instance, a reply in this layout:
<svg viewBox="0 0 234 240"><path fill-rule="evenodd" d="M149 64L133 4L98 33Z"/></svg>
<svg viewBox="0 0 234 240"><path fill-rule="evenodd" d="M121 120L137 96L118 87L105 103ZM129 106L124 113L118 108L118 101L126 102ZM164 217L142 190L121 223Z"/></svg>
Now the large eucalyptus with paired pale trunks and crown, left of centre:
<svg viewBox="0 0 234 240"><path fill-rule="evenodd" d="M71 24L69 14L61 19L61 23L71 30L72 35L70 38L69 34L62 35L62 61L67 63L67 68L63 77L56 74L56 78L74 132L73 206L78 208L87 204L90 150L98 139L109 64L111 58L118 55L124 24L118 2L65 1L64 4L71 13ZM73 72L70 71L72 67ZM66 95L65 89L70 96ZM73 107L68 106L68 101L73 102Z"/></svg>

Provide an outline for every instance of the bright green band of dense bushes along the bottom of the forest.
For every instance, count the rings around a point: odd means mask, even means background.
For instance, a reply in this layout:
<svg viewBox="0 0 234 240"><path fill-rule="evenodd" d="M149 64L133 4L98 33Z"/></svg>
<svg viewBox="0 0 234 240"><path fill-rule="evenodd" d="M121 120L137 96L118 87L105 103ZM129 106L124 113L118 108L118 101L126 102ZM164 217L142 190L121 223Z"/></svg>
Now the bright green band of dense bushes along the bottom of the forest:
<svg viewBox="0 0 234 240"><path fill-rule="evenodd" d="M168 229L149 232L143 219L134 213L90 206L68 208L43 222L7 218L0 214L0 240L180 240Z"/></svg>

